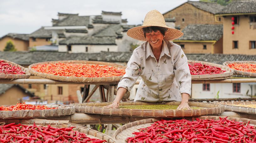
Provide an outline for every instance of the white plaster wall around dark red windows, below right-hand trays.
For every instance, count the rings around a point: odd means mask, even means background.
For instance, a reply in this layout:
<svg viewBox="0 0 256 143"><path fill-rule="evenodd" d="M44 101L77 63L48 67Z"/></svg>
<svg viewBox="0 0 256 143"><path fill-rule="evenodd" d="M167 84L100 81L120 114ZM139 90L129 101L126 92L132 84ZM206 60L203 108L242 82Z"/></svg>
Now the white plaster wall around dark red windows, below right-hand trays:
<svg viewBox="0 0 256 143"><path fill-rule="evenodd" d="M237 98L237 97L248 97L251 94L251 88L249 84L252 83L241 83L241 92L233 92L232 83L211 83L210 91L203 91L203 84L192 84L192 98L215 98L217 92L219 92L219 98ZM255 95L255 86L253 85L253 95Z"/></svg>

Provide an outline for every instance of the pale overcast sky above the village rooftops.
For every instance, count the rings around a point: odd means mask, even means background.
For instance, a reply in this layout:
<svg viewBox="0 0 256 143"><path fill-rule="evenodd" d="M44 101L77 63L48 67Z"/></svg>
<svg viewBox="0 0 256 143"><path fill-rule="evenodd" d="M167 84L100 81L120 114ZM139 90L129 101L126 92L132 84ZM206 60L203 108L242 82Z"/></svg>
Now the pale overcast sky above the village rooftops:
<svg viewBox="0 0 256 143"><path fill-rule="evenodd" d="M128 24L141 24L147 12L167 12L187 0L0 0L0 37L8 33L30 34L41 26L52 26L58 12L79 16L122 12ZM198 0L193 0L198 1Z"/></svg>

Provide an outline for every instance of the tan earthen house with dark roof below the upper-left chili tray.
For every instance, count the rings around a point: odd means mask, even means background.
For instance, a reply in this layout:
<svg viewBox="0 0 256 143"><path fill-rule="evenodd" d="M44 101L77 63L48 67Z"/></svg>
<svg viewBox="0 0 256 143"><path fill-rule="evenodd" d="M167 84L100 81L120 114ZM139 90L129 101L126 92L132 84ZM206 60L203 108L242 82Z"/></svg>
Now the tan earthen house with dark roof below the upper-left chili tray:
<svg viewBox="0 0 256 143"><path fill-rule="evenodd" d="M0 84L0 105L16 105L22 98L34 96L18 84Z"/></svg>

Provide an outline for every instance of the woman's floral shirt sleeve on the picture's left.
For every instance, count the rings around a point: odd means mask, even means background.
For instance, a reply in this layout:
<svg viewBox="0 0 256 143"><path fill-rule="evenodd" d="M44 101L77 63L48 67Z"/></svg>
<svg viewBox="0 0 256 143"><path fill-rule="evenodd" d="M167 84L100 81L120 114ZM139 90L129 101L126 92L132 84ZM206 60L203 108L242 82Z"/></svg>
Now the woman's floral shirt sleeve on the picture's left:
<svg viewBox="0 0 256 143"><path fill-rule="evenodd" d="M140 60L137 50L133 51L133 54L130 60L127 63L127 68L125 69L125 74L118 83L117 90L119 87L123 87L130 91L137 79L139 78L139 70L140 70Z"/></svg>

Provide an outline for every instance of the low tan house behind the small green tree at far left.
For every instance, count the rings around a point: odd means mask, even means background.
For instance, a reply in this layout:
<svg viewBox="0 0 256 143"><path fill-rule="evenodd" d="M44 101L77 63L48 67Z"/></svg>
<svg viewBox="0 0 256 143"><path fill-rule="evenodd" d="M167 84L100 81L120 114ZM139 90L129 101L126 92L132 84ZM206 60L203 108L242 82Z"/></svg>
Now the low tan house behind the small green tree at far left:
<svg viewBox="0 0 256 143"><path fill-rule="evenodd" d="M9 33L0 38L0 51L3 51L8 41L13 42L17 51L27 51L29 47L29 34Z"/></svg>

